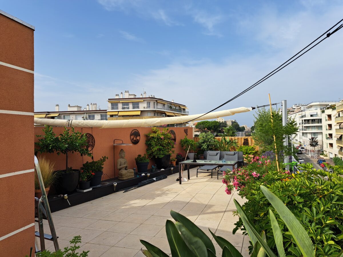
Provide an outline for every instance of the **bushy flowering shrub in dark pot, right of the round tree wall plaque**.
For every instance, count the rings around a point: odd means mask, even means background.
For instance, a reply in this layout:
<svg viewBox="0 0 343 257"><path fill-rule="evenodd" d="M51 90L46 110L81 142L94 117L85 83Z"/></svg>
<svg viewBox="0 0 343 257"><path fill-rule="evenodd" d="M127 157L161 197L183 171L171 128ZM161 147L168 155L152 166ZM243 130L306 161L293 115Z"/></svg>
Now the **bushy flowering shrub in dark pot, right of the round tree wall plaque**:
<svg viewBox="0 0 343 257"><path fill-rule="evenodd" d="M150 133L145 134L145 144L148 146L146 153L149 158L155 159L157 169L165 169L169 165L170 156L174 154L175 142L166 127L162 131L156 127L152 127L151 130Z"/></svg>

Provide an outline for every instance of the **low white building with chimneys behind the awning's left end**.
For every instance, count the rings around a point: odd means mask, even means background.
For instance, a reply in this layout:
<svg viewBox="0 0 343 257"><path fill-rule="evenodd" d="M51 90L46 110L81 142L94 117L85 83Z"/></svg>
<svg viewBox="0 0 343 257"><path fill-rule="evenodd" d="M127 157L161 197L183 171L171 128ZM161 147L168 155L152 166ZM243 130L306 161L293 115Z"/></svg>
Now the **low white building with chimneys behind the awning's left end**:
<svg viewBox="0 0 343 257"><path fill-rule="evenodd" d="M60 111L59 105L55 111L35 112L35 118L61 119L61 120L107 120L107 110L98 110L96 103L87 104L86 108L78 105L68 105L67 111Z"/></svg>

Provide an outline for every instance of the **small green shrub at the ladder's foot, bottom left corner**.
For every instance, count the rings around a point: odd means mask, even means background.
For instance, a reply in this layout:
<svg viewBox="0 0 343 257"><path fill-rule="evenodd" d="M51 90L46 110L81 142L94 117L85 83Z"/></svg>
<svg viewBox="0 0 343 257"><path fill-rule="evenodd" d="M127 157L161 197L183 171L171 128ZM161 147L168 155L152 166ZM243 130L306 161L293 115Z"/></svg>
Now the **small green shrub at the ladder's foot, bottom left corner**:
<svg viewBox="0 0 343 257"><path fill-rule="evenodd" d="M56 252L50 252L49 250L44 250L43 252L38 252L35 255L37 257L87 257L89 251L82 251L82 253L76 252L80 249L80 246L76 246L81 243L81 236L74 236L72 240L69 241L72 246L64 247L63 250L59 249ZM27 257L27 256L26 256Z"/></svg>

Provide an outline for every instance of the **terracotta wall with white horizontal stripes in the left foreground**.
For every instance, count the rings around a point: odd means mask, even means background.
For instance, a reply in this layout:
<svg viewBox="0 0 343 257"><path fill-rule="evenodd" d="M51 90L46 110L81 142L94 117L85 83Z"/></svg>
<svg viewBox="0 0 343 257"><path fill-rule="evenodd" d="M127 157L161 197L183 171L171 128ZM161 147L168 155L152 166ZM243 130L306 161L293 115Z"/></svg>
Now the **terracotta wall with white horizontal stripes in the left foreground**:
<svg viewBox="0 0 343 257"><path fill-rule="evenodd" d="M0 256L34 247L33 34L0 10Z"/></svg>

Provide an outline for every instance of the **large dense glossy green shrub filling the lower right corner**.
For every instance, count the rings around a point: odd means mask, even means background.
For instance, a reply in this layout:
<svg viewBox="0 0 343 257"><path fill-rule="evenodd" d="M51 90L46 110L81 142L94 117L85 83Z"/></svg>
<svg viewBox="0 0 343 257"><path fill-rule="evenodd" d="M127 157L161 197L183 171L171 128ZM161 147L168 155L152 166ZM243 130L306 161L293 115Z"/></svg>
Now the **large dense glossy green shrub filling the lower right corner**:
<svg viewBox="0 0 343 257"><path fill-rule="evenodd" d="M269 211L272 211L279 221L286 255L300 256L293 236L287 232L285 224L262 193L260 185L265 185L295 215L316 246L316 256L336 256L343 247L343 170L331 166L329 168L332 168L333 172L330 173L312 168L312 164L303 164L303 172L298 174L289 175L287 171L268 170L262 176L260 174L256 177L252 175L256 172L253 166L245 167L249 174L248 181L243 186L237 186L239 195L248 200L242 208L257 231L265 231L267 244L275 253L276 245L268 218ZM240 218L235 223L233 233L239 229L246 233L243 223Z"/></svg>

